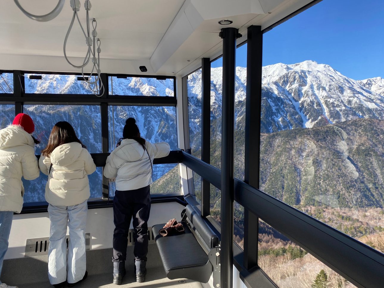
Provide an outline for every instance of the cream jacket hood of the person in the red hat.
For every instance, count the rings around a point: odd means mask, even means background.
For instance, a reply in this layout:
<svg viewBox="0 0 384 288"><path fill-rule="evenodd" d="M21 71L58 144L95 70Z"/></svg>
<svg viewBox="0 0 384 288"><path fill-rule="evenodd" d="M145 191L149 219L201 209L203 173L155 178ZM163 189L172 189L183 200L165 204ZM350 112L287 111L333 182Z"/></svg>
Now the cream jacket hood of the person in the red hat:
<svg viewBox="0 0 384 288"><path fill-rule="evenodd" d="M29 145L34 147L35 142L31 134L24 131L22 126L10 125L0 130L0 149L6 149L19 145Z"/></svg>

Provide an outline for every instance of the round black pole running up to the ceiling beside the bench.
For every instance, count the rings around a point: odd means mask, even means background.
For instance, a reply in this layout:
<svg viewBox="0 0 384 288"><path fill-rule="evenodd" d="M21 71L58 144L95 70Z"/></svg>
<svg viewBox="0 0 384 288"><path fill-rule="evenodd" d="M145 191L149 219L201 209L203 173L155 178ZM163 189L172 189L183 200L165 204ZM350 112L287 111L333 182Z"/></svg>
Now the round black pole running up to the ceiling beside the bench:
<svg viewBox="0 0 384 288"><path fill-rule="evenodd" d="M223 28L223 99L221 146L221 286L233 286L233 184L235 144L235 62L238 29Z"/></svg>

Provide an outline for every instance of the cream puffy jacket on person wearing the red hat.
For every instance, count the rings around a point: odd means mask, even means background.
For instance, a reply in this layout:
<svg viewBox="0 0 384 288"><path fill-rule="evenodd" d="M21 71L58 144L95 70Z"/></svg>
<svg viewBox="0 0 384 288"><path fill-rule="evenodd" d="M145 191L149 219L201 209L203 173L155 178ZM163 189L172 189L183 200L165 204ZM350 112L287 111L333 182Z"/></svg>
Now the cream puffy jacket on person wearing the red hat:
<svg viewBox="0 0 384 288"><path fill-rule="evenodd" d="M0 211L22 210L22 177L33 180L40 175L34 146L31 135L21 126L0 130Z"/></svg>

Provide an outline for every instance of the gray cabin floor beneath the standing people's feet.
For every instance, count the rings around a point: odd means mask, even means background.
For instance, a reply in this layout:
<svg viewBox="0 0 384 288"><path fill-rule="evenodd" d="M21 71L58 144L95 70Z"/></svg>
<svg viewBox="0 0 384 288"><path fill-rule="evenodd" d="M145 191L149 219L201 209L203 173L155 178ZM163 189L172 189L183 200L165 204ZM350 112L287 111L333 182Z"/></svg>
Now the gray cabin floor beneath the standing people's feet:
<svg viewBox="0 0 384 288"><path fill-rule="evenodd" d="M146 282L137 283L134 275L133 246L127 249L126 271L122 285L112 283L112 249L87 251L88 278L76 288L180 287L201 288L199 282L166 277L156 244L149 245ZM131 261L129 260L131 258ZM37 256L5 260L1 280L19 288L52 288L48 281L48 257Z"/></svg>

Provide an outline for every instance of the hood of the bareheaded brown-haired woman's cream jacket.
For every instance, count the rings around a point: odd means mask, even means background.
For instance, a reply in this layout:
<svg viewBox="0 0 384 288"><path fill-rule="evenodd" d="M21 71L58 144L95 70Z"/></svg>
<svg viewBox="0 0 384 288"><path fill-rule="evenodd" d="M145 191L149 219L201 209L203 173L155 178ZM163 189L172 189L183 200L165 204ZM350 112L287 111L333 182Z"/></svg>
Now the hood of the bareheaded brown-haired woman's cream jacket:
<svg viewBox="0 0 384 288"><path fill-rule="evenodd" d="M51 163L56 166L68 166L75 162L83 147L78 142L71 142L56 147L51 153Z"/></svg>

